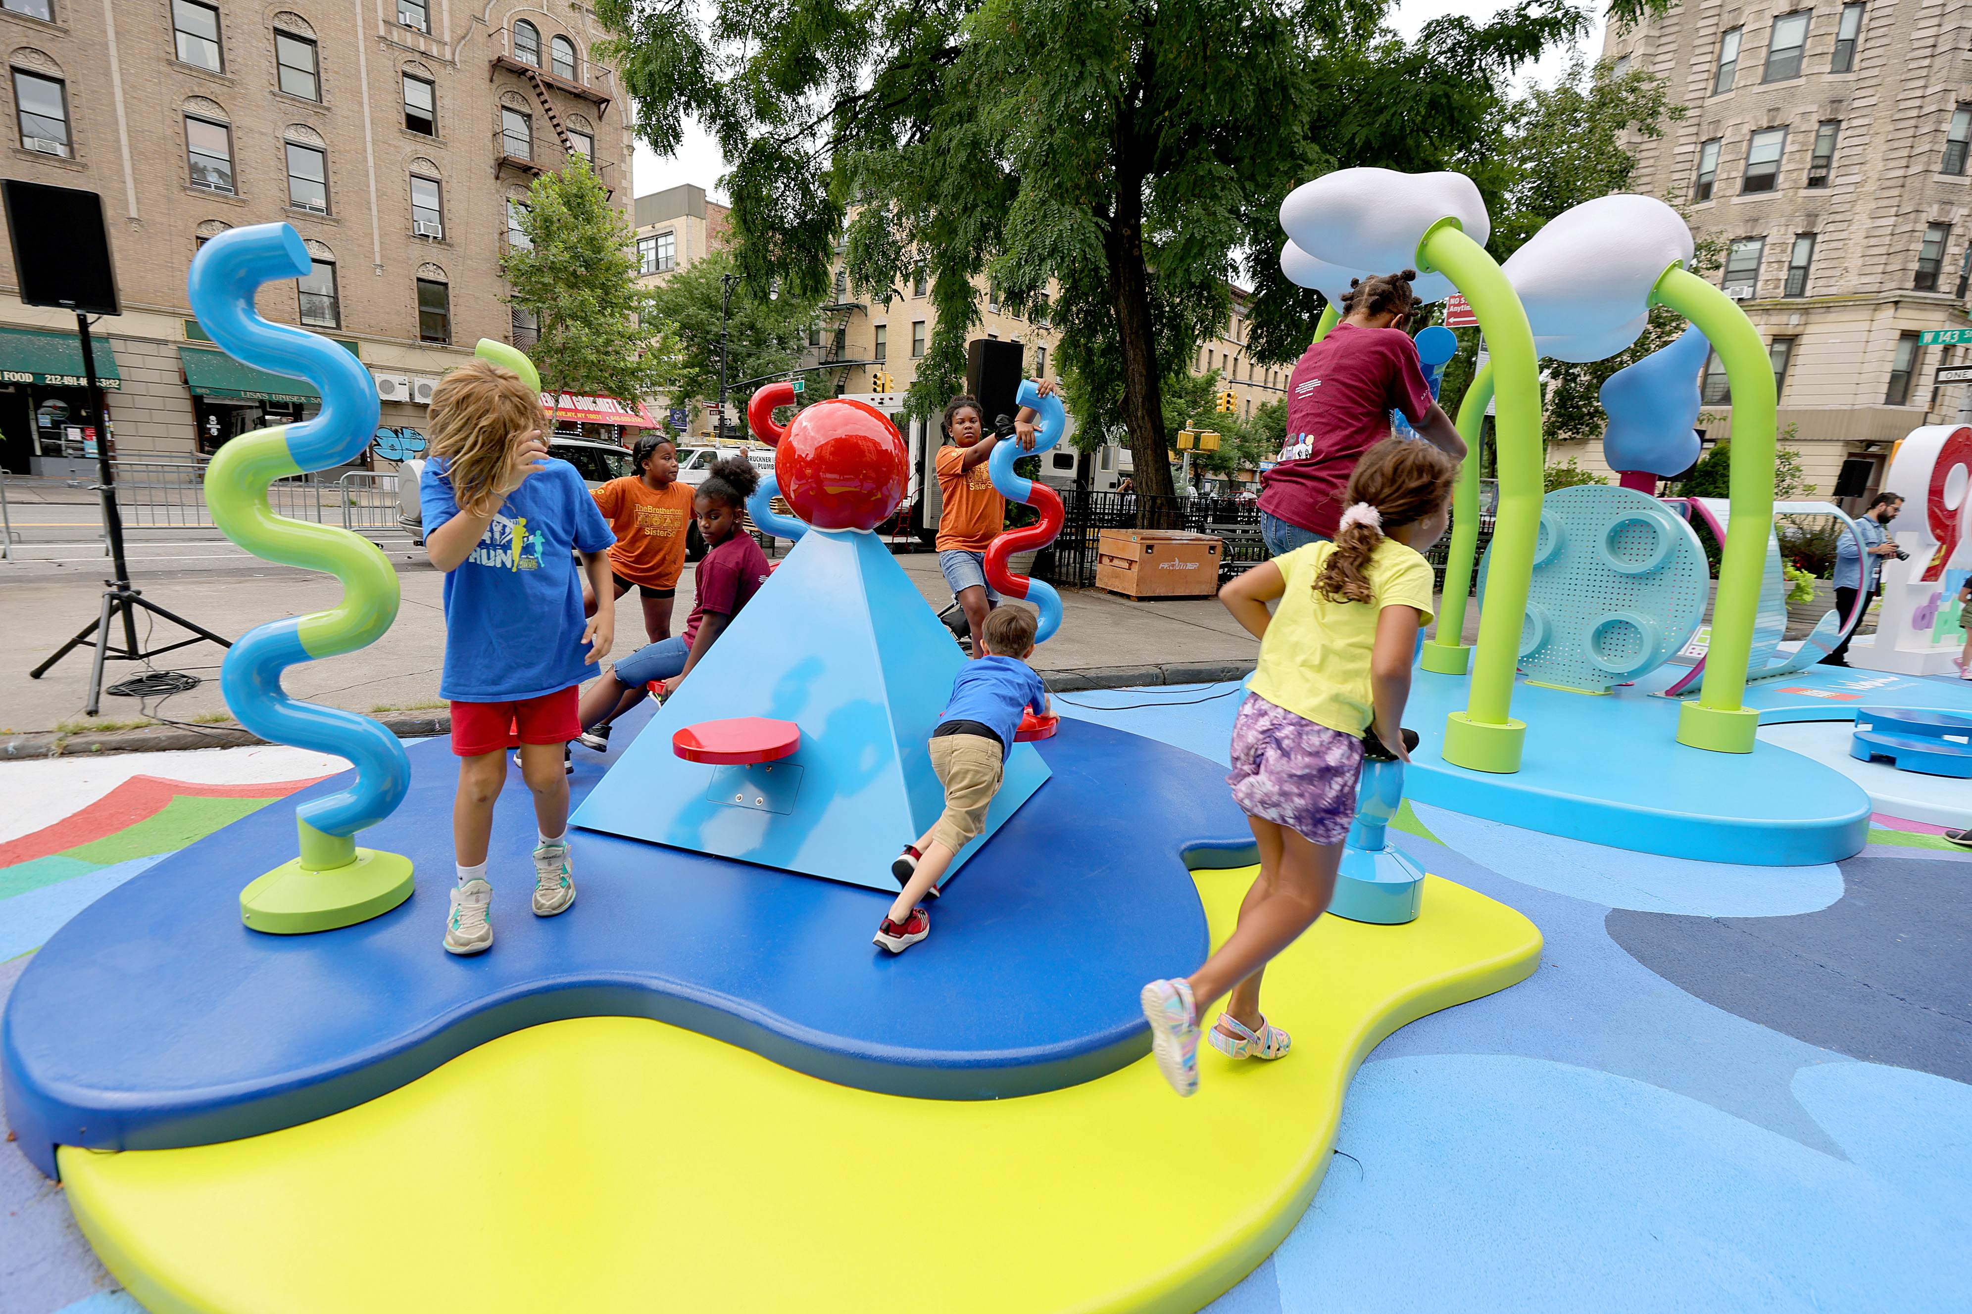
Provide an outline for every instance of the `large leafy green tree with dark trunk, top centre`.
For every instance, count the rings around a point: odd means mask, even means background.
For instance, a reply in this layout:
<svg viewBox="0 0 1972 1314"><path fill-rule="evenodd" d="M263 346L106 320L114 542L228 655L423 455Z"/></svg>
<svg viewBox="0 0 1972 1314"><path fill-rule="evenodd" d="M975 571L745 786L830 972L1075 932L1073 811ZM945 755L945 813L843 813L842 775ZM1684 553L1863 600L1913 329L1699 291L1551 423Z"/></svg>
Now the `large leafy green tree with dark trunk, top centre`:
<svg viewBox="0 0 1972 1314"><path fill-rule="evenodd" d="M844 229L858 294L887 303L923 268L939 327L909 404L931 414L962 376L978 284L1025 313L1055 280L1057 359L1098 402L1079 420L1106 429L1114 398L1140 493L1171 489L1163 388L1227 321L1240 256L1272 264L1282 197L1432 136L1408 118L1414 99L1378 104L1349 81L1378 67L1363 53L1390 39L1384 12L1384 0L598 4L621 33L607 57L641 136L670 154L692 114L720 140L755 290L779 276L820 296ZM1455 108L1479 116L1497 77L1585 22L1574 0L1520 0L1485 26L1430 24L1420 67L1453 67L1426 112L1477 71L1485 91ZM1300 323L1254 355L1292 361L1309 301L1278 274L1262 278L1270 294L1288 299L1272 319Z"/></svg>

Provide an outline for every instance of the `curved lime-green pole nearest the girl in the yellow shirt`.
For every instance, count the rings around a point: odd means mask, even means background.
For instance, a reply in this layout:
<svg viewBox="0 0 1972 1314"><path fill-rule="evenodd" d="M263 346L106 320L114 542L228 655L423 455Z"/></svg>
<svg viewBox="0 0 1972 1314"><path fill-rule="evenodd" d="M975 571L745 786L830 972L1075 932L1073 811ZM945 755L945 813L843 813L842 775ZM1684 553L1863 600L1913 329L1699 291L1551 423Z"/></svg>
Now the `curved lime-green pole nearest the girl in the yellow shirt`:
<svg viewBox="0 0 1972 1314"><path fill-rule="evenodd" d="M1520 660L1520 621L1534 577L1534 546L1540 540L1540 372L1534 331L1513 284L1455 219L1440 219L1424 234L1418 242L1418 268L1447 276L1465 294L1493 353L1493 386L1499 394L1493 429L1499 516L1493 522L1487 607L1479 615L1465 711L1445 717L1442 753L1453 766L1511 774L1520 770L1526 741L1526 725L1509 713L1514 666Z"/></svg>

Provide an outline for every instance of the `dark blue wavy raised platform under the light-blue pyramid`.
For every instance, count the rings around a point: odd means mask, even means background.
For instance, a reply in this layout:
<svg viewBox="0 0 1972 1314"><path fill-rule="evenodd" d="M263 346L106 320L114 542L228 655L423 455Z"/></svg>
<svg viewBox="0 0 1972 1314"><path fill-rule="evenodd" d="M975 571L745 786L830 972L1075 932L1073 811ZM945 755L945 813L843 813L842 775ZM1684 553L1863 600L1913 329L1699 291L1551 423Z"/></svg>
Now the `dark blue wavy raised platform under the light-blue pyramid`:
<svg viewBox="0 0 1972 1314"><path fill-rule="evenodd" d="M497 942L459 959L438 944L454 758L442 741L412 745L410 794L371 831L418 867L406 904L316 936L245 930L239 887L292 843L288 806L164 859L83 910L16 985L0 1032L8 1121L53 1176L57 1143L235 1141L373 1099L499 1034L598 1015L899 1095L1094 1080L1148 1052L1138 987L1207 952L1181 855L1242 855L1250 833L1197 755L1067 721L1039 749L1049 782L899 957L870 944L889 894L613 835L576 839L576 908L538 920L534 818L513 772L495 814ZM603 762L580 749L576 762L580 798Z"/></svg>

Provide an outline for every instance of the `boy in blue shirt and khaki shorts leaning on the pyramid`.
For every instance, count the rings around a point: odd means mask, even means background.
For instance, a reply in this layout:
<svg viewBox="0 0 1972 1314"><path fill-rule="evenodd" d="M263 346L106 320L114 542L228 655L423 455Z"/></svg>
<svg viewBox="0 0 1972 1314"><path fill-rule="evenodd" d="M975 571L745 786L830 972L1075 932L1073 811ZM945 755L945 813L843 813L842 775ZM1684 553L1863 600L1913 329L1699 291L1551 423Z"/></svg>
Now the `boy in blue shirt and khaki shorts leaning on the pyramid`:
<svg viewBox="0 0 1972 1314"><path fill-rule="evenodd" d="M931 731L931 768L945 784L945 812L889 865L903 892L876 928L876 944L891 953L931 934L931 912L917 900L939 896L939 879L952 857L986 829L986 808L1000 792L1021 713L1033 707L1047 715L1047 690L1027 666L1033 626L1033 613L1023 607L990 613L980 634L984 656L966 662L952 680L952 697Z"/></svg>

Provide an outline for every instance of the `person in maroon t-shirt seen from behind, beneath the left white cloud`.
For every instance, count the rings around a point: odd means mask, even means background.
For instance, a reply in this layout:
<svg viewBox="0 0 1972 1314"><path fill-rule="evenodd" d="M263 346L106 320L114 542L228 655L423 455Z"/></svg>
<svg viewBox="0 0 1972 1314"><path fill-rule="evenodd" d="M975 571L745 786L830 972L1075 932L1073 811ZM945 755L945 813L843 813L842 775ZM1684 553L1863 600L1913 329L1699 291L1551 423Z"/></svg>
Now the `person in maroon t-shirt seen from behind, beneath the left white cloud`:
<svg viewBox="0 0 1972 1314"><path fill-rule="evenodd" d="M1438 410L1404 333L1418 297L1416 270L1351 280L1343 321L1309 347L1288 382L1288 441L1280 465L1260 475L1260 534L1272 556L1335 538L1343 491L1357 459L1390 437L1390 412L1453 459L1457 427Z"/></svg>

